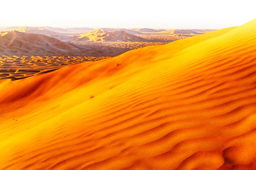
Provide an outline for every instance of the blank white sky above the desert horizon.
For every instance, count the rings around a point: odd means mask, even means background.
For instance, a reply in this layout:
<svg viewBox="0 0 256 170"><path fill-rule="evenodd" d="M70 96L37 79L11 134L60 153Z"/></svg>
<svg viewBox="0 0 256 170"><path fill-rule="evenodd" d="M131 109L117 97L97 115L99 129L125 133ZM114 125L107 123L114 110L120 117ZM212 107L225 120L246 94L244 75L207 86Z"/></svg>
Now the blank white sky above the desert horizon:
<svg viewBox="0 0 256 170"><path fill-rule="evenodd" d="M254 0L1 0L0 6L0 27L219 29L256 18Z"/></svg>

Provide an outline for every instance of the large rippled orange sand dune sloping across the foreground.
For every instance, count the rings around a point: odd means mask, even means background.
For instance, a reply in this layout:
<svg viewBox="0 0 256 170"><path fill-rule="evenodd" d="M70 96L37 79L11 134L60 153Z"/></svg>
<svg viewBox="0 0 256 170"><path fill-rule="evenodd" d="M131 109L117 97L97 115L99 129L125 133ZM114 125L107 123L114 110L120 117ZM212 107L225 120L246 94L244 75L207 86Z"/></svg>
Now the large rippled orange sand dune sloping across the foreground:
<svg viewBox="0 0 256 170"><path fill-rule="evenodd" d="M0 91L3 170L256 169L256 20Z"/></svg>

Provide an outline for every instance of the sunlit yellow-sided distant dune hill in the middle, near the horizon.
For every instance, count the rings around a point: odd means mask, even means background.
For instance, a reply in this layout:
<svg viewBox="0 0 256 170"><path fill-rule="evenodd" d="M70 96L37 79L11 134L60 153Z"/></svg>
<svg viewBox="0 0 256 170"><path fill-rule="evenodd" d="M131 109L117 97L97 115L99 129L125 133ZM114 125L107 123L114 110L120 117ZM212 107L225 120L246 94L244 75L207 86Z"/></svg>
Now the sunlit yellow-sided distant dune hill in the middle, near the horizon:
<svg viewBox="0 0 256 170"><path fill-rule="evenodd" d="M110 31L111 29L95 29L87 34L81 34L79 41L123 41L147 42L148 40L128 34L126 31Z"/></svg>

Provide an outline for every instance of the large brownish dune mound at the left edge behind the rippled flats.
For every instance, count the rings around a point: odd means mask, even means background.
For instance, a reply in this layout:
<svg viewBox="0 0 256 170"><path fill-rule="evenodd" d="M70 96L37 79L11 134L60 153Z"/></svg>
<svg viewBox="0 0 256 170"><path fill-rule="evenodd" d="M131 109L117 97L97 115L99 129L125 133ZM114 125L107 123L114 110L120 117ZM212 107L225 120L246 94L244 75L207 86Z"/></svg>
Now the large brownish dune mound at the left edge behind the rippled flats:
<svg viewBox="0 0 256 170"><path fill-rule="evenodd" d="M71 43L62 42L42 34L26 34L19 31L0 33L1 55L63 55L80 49Z"/></svg>

